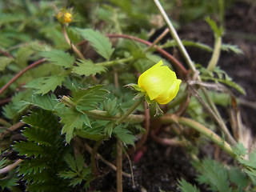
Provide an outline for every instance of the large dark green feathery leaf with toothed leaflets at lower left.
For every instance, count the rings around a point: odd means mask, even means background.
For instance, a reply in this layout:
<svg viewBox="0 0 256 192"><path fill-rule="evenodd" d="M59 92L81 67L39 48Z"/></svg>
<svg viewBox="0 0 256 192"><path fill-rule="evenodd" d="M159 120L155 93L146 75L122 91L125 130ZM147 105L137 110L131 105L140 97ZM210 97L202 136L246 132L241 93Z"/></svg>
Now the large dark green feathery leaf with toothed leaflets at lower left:
<svg viewBox="0 0 256 192"><path fill-rule="evenodd" d="M58 118L47 110L34 110L22 118L30 127L22 131L25 142L15 142L14 150L26 159L20 165L18 174L26 182L29 191L67 191L65 182L58 172L66 167L62 156L67 147L60 135Z"/></svg>

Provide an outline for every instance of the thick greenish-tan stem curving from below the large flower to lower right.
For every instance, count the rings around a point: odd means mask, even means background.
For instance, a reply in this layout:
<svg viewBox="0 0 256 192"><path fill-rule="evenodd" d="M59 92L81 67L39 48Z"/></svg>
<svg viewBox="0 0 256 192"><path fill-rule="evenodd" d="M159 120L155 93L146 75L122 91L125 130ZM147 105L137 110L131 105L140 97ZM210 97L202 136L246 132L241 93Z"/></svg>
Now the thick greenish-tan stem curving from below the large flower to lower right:
<svg viewBox="0 0 256 192"><path fill-rule="evenodd" d="M197 130L206 138L209 138L212 142L216 143L222 150L225 150L226 153L230 154L232 157L235 157L234 151L232 150L230 144L228 142L223 141L222 138L215 134L212 130L208 129L206 126L203 126L199 122L196 122L190 118L182 118L174 115L165 115L160 118L162 122L178 122L184 126L190 126L194 130Z"/></svg>

